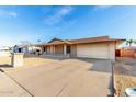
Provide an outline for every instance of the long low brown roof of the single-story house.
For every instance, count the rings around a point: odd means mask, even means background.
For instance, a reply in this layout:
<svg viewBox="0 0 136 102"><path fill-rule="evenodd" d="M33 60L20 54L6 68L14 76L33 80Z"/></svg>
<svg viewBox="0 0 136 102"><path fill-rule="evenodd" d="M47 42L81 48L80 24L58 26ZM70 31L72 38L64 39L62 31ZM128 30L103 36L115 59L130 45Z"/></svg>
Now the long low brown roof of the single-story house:
<svg viewBox="0 0 136 102"><path fill-rule="evenodd" d="M87 43L103 43L103 42L123 42L125 39L121 38L110 38L109 36L99 36L99 37L89 37L89 38L79 38L79 39L59 39L53 38L48 43L41 45L56 45L56 44L87 44Z"/></svg>

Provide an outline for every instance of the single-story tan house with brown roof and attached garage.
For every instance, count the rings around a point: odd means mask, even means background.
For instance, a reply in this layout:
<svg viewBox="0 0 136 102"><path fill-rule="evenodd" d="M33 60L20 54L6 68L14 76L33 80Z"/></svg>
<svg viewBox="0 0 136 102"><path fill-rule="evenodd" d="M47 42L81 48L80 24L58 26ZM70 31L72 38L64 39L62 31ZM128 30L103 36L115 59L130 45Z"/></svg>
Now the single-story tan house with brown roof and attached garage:
<svg viewBox="0 0 136 102"><path fill-rule="evenodd" d="M53 38L48 43L38 44L43 54L64 55L69 57L115 59L115 49L125 39L109 36L80 39Z"/></svg>

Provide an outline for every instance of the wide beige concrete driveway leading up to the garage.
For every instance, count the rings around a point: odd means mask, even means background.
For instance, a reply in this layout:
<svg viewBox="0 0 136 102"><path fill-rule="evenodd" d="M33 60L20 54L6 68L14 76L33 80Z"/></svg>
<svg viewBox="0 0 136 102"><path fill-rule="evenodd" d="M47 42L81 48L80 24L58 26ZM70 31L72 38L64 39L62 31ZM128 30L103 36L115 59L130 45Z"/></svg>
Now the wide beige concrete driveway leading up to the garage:
<svg viewBox="0 0 136 102"><path fill-rule="evenodd" d="M5 70L5 72L32 95L106 97L111 94L110 60L55 59L53 63L29 67Z"/></svg>

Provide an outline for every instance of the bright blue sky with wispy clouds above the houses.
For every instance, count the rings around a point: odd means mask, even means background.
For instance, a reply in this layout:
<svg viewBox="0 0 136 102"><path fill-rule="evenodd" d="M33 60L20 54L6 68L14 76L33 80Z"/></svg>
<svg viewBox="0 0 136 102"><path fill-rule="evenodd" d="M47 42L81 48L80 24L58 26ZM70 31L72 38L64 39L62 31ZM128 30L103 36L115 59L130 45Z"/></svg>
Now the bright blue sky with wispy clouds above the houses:
<svg viewBox="0 0 136 102"><path fill-rule="evenodd" d="M136 7L0 7L0 46L103 35L136 38Z"/></svg>

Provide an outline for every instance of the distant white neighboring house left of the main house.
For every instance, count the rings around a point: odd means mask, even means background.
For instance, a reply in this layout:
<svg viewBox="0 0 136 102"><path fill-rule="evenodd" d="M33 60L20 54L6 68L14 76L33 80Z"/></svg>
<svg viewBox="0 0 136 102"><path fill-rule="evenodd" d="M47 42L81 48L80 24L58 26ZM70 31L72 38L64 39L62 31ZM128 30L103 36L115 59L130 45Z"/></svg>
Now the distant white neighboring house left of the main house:
<svg viewBox="0 0 136 102"><path fill-rule="evenodd" d="M15 45L13 47L14 53L25 53L25 54L34 54L35 52L39 50L39 47L33 46L33 45Z"/></svg>

